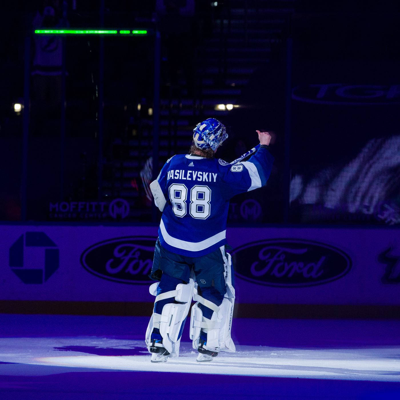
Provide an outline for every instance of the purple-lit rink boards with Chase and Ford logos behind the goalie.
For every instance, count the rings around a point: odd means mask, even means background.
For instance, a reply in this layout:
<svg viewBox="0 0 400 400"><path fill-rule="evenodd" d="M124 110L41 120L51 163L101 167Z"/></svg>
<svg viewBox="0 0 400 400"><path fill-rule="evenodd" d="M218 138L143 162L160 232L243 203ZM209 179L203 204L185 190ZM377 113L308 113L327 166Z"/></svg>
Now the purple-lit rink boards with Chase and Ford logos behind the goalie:
<svg viewBox="0 0 400 400"><path fill-rule="evenodd" d="M152 302L156 226L1 225L0 300ZM228 228L238 303L399 305L394 228Z"/></svg>

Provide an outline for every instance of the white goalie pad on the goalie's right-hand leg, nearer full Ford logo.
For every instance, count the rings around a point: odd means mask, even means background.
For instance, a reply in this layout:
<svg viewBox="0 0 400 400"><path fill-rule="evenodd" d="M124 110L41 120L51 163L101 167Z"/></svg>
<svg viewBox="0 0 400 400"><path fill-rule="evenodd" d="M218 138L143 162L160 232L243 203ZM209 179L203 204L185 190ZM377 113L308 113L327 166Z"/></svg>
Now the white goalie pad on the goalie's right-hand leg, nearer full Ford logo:
<svg viewBox="0 0 400 400"><path fill-rule="evenodd" d="M225 268L226 294L222 304L218 307L206 300L195 290L193 300L197 301L192 307L190 317L190 339L194 349L200 345L200 331L207 333L206 350L235 352L235 344L231 338L233 307L235 303L235 289L232 286L232 259L230 254L225 253L224 246L220 247ZM200 310L199 304L213 310L211 319L205 318Z"/></svg>

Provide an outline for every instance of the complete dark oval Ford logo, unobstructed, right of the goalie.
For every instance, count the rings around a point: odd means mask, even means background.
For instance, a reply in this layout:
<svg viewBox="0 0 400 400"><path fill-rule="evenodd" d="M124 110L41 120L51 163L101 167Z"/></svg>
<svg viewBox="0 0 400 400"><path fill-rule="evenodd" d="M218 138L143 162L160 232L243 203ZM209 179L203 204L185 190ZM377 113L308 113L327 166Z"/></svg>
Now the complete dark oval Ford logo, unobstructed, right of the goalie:
<svg viewBox="0 0 400 400"><path fill-rule="evenodd" d="M342 278L351 268L342 250L312 240L270 239L233 250L236 275L267 286L313 286Z"/></svg>

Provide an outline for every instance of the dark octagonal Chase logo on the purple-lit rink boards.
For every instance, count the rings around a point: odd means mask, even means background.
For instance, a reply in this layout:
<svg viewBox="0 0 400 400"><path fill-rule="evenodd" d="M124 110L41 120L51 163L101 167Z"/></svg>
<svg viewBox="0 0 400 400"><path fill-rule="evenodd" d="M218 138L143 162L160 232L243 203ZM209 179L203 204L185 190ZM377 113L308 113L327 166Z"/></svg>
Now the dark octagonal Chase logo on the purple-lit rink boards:
<svg viewBox="0 0 400 400"><path fill-rule="evenodd" d="M57 245L44 232L26 232L10 247L10 267L24 283L44 283L60 265Z"/></svg>

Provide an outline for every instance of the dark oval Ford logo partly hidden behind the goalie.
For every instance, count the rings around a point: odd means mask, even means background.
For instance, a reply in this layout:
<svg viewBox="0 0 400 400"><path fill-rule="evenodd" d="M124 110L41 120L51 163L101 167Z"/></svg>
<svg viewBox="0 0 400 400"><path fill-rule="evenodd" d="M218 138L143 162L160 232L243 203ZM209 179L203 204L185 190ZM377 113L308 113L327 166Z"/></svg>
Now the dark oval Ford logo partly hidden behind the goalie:
<svg viewBox="0 0 400 400"><path fill-rule="evenodd" d="M153 265L156 237L126 236L104 240L87 248L80 257L88 272L121 283L147 284Z"/></svg>

